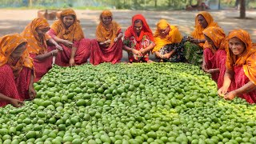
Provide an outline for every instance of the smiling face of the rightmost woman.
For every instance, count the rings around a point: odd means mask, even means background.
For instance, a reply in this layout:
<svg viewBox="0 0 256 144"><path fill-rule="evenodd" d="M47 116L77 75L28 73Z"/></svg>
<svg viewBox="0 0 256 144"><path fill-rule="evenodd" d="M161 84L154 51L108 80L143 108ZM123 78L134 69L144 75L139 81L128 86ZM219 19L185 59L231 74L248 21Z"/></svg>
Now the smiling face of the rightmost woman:
<svg viewBox="0 0 256 144"><path fill-rule="evenodd" d="M246 45L239 38L230 38L230 50L234 55L241 55L246 50Z"/></svg>

